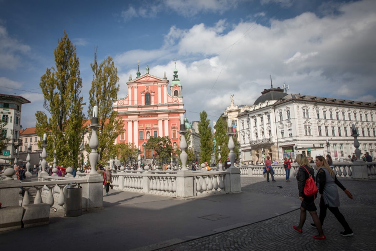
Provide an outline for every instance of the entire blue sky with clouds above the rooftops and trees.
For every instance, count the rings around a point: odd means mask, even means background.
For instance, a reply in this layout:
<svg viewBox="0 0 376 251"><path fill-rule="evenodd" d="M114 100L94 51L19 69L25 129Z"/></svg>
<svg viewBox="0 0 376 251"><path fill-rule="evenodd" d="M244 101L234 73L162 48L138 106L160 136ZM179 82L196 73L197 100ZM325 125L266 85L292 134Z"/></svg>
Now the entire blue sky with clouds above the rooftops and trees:
<svg viewBox="0 0 376 251"><path fill-rule="evenodd" d="M190 121L202 110L216 120L231 94L252 105L270 75L289 93L376 101L373 0L0 0L0 93L32 101L23 128L44 111L40 77L63 30L77 45L86 102L96 46L100 62L114 58L118 98L138 60L141 74L149 65L171 81L176 58Z"/></svg>

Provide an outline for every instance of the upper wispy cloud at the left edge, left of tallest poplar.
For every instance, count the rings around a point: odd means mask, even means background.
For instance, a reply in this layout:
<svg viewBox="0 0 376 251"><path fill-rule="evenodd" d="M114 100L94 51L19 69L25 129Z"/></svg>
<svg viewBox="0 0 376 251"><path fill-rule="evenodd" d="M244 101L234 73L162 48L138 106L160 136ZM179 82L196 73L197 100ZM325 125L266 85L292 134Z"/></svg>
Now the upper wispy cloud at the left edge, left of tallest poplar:
<svg viewBox="0 0 376 251"><path fill-rule="evenodd" d="M30 51L30 46L9 36L6 28L0 25L0 68L16 69L22 64L21 55Z"/></svg>

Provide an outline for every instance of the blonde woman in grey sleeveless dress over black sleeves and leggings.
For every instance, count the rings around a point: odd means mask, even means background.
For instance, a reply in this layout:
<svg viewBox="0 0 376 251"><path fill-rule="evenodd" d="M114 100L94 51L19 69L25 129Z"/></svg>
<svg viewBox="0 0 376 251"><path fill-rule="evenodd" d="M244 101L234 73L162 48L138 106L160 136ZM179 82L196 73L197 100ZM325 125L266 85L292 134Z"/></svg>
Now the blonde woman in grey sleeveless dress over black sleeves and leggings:
<svg viewBox="0 0 376 251"><path fill-rule="evenodd" d="M333 169L331 169L324 157L317 156L315 163L317 169L315 180L318 184L318 192L321 195L319 216L321 225L324 224L326 209L329 208L329 211L334 214L335 218L337 218L342 227L345 229L345 231L340 232L340 234L342 236L352 236L354 234L353 231L338 209L340 206L340 197L338 195L337 186L339 186L350 199L353 198L351 193L340 183L340 181L338 181ZM316 227L314 223L311 223L311 226Z"/></svg>

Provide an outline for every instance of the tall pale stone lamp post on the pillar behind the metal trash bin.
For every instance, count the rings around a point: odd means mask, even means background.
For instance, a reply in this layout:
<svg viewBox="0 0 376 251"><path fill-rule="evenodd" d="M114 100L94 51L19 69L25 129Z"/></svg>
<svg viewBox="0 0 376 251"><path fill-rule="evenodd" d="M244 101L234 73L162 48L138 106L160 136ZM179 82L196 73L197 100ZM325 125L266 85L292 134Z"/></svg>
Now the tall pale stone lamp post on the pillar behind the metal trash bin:
<svg viewBox="0 0 376 251"><path fill-rule="evenodd" d="M89 146L91 148L91 152L89 154L89 161L91 166L91 171L89 175L100 175L95 170L97 163L98 163L98 153L97 153L97 147L99 145L98 141L98 135L97 135L97 129L100 127L99 125L99 119L98 119L98 106L93 107L93 116L91 117L91 124L89 125L89 128L91 128L92 133L89 141Z"/></svg>

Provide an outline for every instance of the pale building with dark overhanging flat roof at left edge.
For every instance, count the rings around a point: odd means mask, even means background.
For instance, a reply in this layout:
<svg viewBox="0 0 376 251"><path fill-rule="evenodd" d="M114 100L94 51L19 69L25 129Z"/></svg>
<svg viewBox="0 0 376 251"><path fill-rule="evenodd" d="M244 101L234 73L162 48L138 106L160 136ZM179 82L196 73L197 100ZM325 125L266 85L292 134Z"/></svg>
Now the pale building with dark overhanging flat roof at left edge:
<svg viewBox="0 0 376 251"><path fill-rule="evenodd" d="M5 149L1 149L0 158L3 160L14 160L15 150L22 145L20 140L21 128L21 108L23 104L30 103L29 100L21 96L0 94L0 114L3 123L2 134L9 138Z"/></svg>

